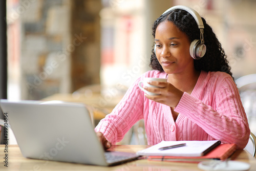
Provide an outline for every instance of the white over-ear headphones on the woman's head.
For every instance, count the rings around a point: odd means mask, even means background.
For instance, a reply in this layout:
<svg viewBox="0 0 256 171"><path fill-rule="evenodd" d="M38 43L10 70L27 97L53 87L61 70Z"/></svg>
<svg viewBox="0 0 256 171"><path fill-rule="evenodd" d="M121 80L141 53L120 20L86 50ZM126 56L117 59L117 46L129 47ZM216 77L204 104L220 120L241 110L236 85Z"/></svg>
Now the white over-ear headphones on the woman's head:
<svg viewBox="0 0 256 171"><path fill-rule="evenodd" d="M190 53L190 56L193 57L194 59L200 59L201 57L203 57L205 55L205 52L206 52L206 46L204 45L204 24L203 24L202 18L198 14L198 12L195 11L194 9L186 7L186 6L182 6L182 5L178 5L178 6L169 8L163 14L165 14L166 12L175 10L175 9L185 10L195 18L198 28L200 29L200 40L195 39L191 42L190 47L189 47L189 53ZM156 48L157 48L157 46L155 45L155 47L154 47L155 54L156 54Z"/></svg>

